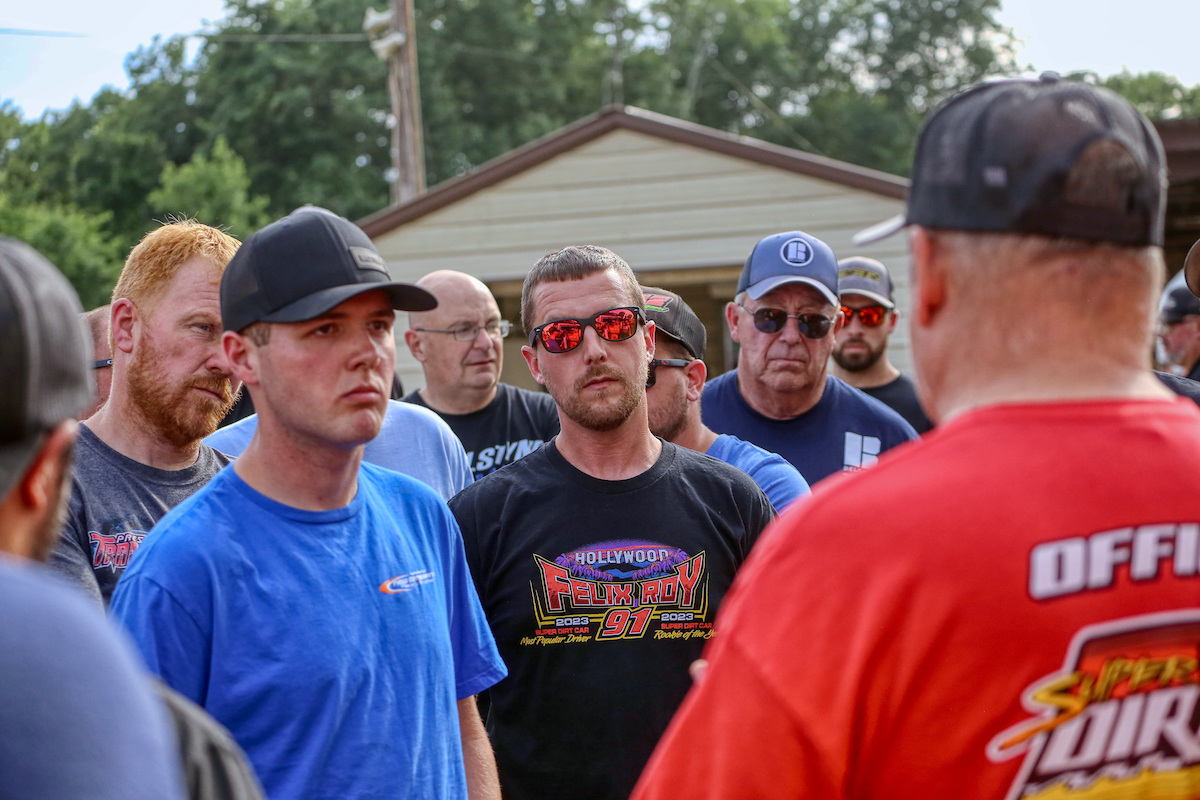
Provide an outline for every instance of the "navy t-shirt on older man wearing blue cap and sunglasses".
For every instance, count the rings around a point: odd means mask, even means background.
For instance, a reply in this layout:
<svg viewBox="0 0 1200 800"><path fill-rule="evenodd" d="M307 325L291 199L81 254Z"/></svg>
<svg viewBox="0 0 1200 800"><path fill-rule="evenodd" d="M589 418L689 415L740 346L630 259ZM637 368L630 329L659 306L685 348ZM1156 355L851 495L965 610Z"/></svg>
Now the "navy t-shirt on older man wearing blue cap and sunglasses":
<svg viewBox="0 0 1200 800"><path fill-rule="evenodd" d="M899 414L833 375L826 377L816 405L791 420L773 420L750 408L732 369L704 384L700 414L713 431L779 453L810 486L870 467L880 453L917 438Z"/></svg>

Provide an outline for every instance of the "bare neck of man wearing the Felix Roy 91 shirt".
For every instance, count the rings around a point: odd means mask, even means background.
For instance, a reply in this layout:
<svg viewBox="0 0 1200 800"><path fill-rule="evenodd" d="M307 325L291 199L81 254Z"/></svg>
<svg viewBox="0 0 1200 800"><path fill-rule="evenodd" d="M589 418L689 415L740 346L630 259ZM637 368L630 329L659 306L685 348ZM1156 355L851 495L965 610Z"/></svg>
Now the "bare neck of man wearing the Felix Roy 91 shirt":
<svg viewBox="0 0 1200 800"><path fill-rule="evenodd" d="M662 443L650 433L646 401L612 431L584 428L559 410L554 446L571 467L602 481L637 477L659 459Z"/></svg>

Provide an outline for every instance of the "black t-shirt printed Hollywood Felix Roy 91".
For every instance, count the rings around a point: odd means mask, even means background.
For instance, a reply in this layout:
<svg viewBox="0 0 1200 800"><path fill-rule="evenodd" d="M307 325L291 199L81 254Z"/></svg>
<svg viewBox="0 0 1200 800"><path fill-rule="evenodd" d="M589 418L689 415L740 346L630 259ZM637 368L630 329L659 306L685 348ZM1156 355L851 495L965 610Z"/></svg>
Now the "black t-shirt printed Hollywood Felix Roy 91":
<svg viewBox="0 0 1200 800"><path fill-rule="evenodd" d="M626 798L773 516L743 471L664 443L602 481L554 443L450 501L509 676L487 727L505 798Z"/></svg>

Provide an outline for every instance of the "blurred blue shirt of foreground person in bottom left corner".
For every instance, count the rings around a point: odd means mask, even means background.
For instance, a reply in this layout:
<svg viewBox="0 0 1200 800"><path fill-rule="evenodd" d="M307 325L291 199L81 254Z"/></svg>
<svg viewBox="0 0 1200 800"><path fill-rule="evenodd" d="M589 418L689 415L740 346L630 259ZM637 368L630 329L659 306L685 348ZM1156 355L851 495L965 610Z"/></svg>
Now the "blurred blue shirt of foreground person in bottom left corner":
<svg viewBox="0 0 1200 800"><path fill-rule="evenodd" d="M0 798L182 800L175 734L124 634L0 558Z"/></svg>

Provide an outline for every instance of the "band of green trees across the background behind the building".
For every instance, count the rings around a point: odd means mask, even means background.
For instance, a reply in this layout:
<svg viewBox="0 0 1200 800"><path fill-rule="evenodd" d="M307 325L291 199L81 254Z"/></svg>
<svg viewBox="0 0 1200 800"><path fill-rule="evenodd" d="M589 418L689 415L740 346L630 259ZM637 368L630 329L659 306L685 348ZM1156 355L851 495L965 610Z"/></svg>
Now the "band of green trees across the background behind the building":
<svg viewBox="0 0 1200 800"><path fill-rule="evenodd" d="M612 102L904 174L934 104L1015 71L1000 1L415 0L427 182ZM169 213L245 236L305 203L384 207L391 101L361 24L388 5L227 0L191 61L155 38L125 90L31 122L0 103L4 224L95 300ZM1084 77L1200 116L1174 78Z"/></svg>

